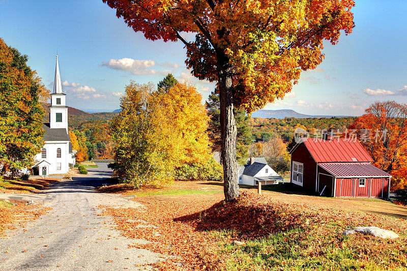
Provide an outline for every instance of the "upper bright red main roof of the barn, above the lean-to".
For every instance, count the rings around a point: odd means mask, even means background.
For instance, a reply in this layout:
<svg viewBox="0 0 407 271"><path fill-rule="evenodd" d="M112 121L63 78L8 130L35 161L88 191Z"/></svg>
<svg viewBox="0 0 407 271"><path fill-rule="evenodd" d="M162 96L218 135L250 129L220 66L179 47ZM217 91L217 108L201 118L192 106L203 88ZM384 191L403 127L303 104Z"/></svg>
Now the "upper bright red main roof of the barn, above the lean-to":
<svg viewBox="0 0 407 271"><path fill-rule="evenodd" d="M290 151L295 151L298 145L304 143L312 158L317 163L327 162L373 162L364 147L355 139L335 138L302 138L302 141Z"/></svg>

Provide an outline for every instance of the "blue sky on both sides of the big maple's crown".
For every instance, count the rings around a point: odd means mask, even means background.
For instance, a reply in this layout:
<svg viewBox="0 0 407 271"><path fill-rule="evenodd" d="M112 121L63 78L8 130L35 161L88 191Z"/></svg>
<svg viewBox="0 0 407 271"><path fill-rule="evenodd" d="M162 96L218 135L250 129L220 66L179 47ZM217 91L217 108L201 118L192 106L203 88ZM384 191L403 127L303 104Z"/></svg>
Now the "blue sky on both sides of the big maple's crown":
<svg viewBox="0 0 407 271"><path fill-rule="evenodd" d="M377 100L407 103L407 1L356 2L353 33L326 44L324 62L265 109L360 115ZM0 14L0 37L29 56L50 89L58 51L69 106L112 111L130 80L157 83L168 72L195 82L203 99L214 89L190 75L181 43L146 40L101 0L0 0Z"/></svg>

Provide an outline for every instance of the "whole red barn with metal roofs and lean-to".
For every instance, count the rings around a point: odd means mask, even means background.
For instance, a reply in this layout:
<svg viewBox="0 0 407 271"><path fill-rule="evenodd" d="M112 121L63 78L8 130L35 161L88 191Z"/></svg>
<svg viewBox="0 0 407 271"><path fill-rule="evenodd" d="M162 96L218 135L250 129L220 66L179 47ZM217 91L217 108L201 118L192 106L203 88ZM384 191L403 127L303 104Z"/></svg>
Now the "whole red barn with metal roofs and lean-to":
<svg viewBox="0 0 407 271"><path fill-rule="evenodd" d="M373 166L355 139L302 138L291 154L291 182L332 197L388 198L391 175Z"/></svg>

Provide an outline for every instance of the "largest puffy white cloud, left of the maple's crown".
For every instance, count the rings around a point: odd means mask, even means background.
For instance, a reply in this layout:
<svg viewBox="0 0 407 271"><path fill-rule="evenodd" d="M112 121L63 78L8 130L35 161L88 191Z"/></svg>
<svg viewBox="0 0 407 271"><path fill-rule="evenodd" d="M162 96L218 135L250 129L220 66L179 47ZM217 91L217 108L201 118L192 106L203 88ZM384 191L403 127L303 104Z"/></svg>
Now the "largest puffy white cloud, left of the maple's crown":
<svg viewBox="0 0 407 271"><path fill-rule="evenodd" d="M171 68L178 68L178 64L171 64L171 63L164 63L163 65L172 65ZM120 59L110 59L108 62L102 62L100 66L107 67L112 70L116 71L125 71L130 72L135 75L147 75L147 74L160 74L166 75L173 71L164 70L158 71L155 69L151 69L152 67L156 66L156 62L149 59L149 60L138 60L133 58L120 58ZM176 67L177 66L177 67Z"/></svg>

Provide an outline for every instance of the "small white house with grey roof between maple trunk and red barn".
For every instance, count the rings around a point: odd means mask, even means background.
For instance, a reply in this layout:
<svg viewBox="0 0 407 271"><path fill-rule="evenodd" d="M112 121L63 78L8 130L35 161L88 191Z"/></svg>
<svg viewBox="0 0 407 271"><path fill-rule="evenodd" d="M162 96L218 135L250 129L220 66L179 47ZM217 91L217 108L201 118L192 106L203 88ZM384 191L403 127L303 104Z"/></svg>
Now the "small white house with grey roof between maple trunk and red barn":
<svg viewBox="0 0 407 271"><path fill-rule="evenodd" d="M256 186L259 180L265 181L263 185L278 184L283 178L268 164L265 158L247 159L247 163L238 168L239 184Z"/></svg>

